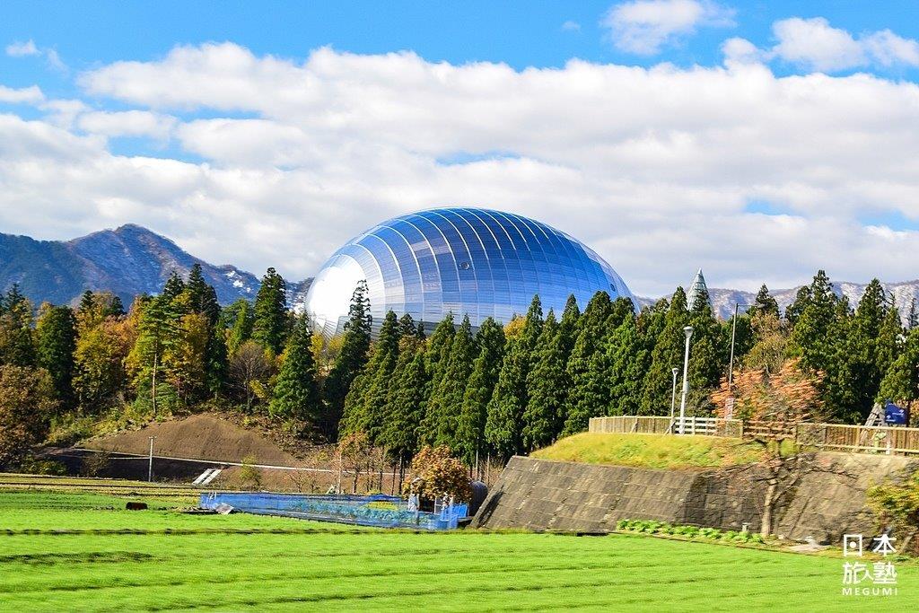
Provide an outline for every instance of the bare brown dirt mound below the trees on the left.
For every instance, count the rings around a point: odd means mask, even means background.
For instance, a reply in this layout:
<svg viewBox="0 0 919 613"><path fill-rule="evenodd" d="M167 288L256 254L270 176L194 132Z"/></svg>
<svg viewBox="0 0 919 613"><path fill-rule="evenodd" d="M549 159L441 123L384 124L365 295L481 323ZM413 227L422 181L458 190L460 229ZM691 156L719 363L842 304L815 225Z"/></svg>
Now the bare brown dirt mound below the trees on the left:
<svg viewBox="0 0 919 613"><path fill-rule="evenodd" d="M153 441L155 456L228 462L242 461L251 456L255 458L256 464L301 465L300 461L267 437L206 413L152 424L110 437L90 438L83 447L146 455L150 437L156 437Z"/></svg>

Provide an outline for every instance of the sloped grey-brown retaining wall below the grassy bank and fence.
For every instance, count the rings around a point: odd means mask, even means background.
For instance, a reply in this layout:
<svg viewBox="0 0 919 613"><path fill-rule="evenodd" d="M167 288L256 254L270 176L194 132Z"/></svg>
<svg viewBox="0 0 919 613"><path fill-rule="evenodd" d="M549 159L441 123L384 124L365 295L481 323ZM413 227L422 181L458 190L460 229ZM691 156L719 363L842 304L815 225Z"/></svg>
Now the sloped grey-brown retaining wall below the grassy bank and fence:
<svg viewBox="0 0 919 613"><path fill-rule="evenodd" d="M777 534L835 542L845 531L870 533L865 490L914 470L892 456L820 454L827 472L808 474L784 501ZM845 468L854 476L831 471ZM758 530L763 485L755 471L655 471L515 457L476 515L480 528L605 531L620 519L657 519L722 529Z"/></svg>

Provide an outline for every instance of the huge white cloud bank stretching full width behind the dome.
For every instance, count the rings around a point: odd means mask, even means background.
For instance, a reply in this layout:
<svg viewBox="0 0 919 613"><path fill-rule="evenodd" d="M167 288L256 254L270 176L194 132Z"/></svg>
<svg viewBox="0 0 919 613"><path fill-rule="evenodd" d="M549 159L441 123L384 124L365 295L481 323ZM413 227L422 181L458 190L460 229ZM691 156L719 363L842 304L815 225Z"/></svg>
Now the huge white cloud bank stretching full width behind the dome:
<svg viewBox="0 0 919 613"><path fill-rule="evenodd" d="M0 115L0 227L69 238L134 221L210 261L303 278L374 221L479 205L577 236L642 294L697 267L751 289L819 267L914 278L903 254L919 233L858 219L919 218L919 87L777 77L741 61L750 45L725 48L736 62L689 69L329 49L281 60L229 43L116 62L80 82L124 111L70 100L44 103L49 119ZM111 153L107 136L129 131L204 161ZM458 153L477 161L438 162ZM747 212L754 200L789 212Z"/></svg>

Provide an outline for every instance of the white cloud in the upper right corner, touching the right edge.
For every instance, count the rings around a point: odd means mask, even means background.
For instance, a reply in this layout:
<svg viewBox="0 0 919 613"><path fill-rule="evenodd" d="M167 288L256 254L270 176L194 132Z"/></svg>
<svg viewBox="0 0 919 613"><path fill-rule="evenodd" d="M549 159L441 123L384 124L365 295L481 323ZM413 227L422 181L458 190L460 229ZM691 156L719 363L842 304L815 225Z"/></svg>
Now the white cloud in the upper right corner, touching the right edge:
<svg viewBox="0 0 919 613"><path fill-rule="evenodd" d="M889 29L858 38L833 28L823 17L791 17L772 25L777 44L769 52L786 62L823 72L860 68L870 64L919 66L919 43Z"/></svg>

